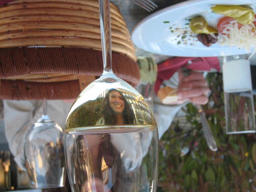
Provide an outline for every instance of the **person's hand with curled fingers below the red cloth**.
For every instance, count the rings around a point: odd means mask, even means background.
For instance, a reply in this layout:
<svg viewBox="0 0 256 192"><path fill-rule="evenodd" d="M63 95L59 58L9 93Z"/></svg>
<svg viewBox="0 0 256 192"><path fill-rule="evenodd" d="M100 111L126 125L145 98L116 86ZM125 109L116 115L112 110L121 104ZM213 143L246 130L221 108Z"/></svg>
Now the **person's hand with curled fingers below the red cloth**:
<svg viewBox="0 0 256 192"><path fill-rule="evenodd" d="M185 101L190 101L194 104L206 104L210 89L203 74L192 71L188 76L184 77L182 70L179 70L178 73L178 100L173 104L182 104Z"/></svg>

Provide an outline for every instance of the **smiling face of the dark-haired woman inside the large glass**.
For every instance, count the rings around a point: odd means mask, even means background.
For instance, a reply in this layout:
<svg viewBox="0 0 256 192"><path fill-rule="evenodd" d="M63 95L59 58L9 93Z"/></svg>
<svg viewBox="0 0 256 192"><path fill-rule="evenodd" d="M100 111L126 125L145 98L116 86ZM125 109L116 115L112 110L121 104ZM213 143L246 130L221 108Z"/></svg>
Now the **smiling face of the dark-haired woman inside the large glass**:
<svg viewBox="0 0 256 192"><path fill-rule="evenodd" d="M117 114L120 114L124 111L124 100L119 92L112 91L109 94L109 105L116 112Z"/></svg>

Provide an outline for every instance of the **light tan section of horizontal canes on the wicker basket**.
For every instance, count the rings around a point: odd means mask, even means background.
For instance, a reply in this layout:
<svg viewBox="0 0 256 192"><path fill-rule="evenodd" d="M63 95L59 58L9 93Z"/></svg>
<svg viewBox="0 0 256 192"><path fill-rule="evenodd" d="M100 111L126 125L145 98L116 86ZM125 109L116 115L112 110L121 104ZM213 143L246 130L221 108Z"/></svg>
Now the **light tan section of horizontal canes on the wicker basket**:
<svg viewBox="0 0 256 192"><path fill-rule="evenodd" d="M120 11L110 4L112 51L137 60ZM101 50L97 0L16 0L0 6L0 48L72 46Z"/></svg>

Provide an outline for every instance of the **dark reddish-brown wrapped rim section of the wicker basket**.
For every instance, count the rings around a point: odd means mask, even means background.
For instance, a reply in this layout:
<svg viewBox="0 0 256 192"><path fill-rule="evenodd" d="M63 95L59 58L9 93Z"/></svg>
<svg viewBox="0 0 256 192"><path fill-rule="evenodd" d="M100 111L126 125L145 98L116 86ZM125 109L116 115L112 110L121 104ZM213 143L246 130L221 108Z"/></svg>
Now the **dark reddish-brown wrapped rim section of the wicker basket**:
<svg viewBox="0 0 256 192"><path fill-rule="evenodd" d="M76 98L103 71L102 52L85 48L5 48L0 56L0 99ZM128 56L113 52L112 68L138 85L138 64Z"/></svg>

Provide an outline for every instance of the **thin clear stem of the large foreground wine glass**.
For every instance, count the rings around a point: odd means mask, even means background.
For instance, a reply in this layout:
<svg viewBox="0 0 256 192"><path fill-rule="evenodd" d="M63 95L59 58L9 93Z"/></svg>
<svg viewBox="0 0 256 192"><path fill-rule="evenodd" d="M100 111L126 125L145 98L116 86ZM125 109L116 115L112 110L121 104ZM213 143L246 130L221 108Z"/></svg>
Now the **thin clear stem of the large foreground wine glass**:
<svg viewBox="0 0 256 192"><path fill-rule="evenodd" d="M112 73L111 66L111 24L109 0L99 0L100 4L100 35L103 56L103 74Z"/></svg>

